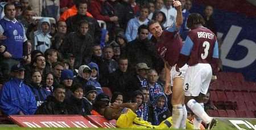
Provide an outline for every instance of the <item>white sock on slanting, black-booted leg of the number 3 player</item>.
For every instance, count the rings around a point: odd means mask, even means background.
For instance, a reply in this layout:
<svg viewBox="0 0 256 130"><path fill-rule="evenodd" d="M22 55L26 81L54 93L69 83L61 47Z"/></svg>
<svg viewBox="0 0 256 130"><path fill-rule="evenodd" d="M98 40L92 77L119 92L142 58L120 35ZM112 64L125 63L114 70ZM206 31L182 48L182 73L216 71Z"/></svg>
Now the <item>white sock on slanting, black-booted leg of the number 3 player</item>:
<svg viewBox="0 0 256 130"><path fill-rule="evenodd" d="M189 100L187 106L191 109L191 111L193 111L195 115L201 118L204 123L208 124L210 121L212 121L212 118L207 115L207 113L204 111L204 108L199 103L197 103L195 99Z"/></svg>

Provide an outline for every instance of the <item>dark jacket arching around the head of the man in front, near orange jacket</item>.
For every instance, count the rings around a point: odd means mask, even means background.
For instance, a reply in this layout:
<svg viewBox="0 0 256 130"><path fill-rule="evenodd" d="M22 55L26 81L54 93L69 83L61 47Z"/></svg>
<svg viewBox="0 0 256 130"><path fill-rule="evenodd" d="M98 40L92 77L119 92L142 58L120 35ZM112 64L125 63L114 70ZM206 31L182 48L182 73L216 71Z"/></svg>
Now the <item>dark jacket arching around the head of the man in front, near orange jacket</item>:
<svg viewBox="0 0 256 130"><path fill-rule="evenodd" d="M96 43L99 43L101 37L101 28L96 19L91 18L86 15L77 14L75 16L69 17L67 22L67 33L76 32L79 28L80 20L86 20L89 22L88 33L93 37L94 40L97 40Z"/></svg>

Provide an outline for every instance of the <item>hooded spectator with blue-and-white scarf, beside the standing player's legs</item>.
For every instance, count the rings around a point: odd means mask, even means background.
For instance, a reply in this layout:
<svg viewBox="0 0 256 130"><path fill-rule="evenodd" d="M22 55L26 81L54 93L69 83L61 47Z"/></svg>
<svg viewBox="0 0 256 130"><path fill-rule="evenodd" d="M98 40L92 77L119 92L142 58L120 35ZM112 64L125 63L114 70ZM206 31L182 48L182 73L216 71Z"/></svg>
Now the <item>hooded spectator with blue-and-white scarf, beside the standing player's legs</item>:
<svg viewBox="0 0 256 130"><path fill-rule="evenodd" d="M159 125L163 120L169 118L171 112L167 106L167 97L164 93L158 93L155 95L154 102L154 121L153 125Z"/></svg>

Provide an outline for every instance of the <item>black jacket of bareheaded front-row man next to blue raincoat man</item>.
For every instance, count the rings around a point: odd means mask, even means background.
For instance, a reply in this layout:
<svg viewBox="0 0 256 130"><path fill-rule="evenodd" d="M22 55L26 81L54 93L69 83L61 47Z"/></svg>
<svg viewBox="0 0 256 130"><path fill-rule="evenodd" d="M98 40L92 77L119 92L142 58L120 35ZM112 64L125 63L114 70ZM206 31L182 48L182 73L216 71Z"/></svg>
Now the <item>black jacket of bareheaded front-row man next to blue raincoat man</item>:
<svg viewBox="0 0 256 130"><path fill-rule="evenodd" d="M36 110L36 114L44 114L44 115L67 115L68 114L68 105L65 102L59 102L53 97L49 95L38 110Z"/></svg>

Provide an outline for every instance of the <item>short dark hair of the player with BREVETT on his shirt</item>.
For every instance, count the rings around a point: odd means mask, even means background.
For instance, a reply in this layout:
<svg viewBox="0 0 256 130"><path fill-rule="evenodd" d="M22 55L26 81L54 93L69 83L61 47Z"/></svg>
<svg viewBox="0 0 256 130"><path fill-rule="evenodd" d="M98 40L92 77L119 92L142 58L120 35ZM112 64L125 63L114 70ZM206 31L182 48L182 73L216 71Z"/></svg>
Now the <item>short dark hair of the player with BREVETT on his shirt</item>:
<svg viewBox="0 0 256 130"><path fill-rule="evenodd" d="M187 19L187 27L191 28L196 24L202 24L204 25L204 18L202 15L198 14L198 13L192 13L188 15L188 19Z"/></svg>

